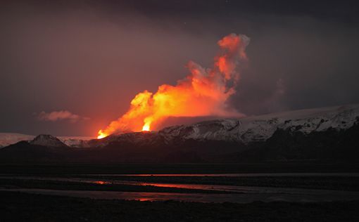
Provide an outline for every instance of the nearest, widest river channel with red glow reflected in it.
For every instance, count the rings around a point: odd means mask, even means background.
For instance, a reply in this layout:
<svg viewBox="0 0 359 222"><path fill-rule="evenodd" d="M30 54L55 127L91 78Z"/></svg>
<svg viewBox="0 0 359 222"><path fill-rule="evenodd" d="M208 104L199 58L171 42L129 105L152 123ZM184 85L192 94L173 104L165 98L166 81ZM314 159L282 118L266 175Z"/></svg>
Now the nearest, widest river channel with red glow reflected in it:
<svg viewBox="0 0 359 222"><path fill-rule="evenodd" d="M6 189L0 189L6 190ZM234 194L203 194L203 193L170 193L170 192L116 192L88 190L43 190L43 189L12 189L43 195L64 195L71 197L89 197L94 199L118 199L140 201L177 200L183 202L237 202L255 201L273 202L322 202L334 200L359 200L359 192L330 191L302 193L234 193ZM317 190L316 190L317 191ZM323 191L323 190L322 190Z"/></svg>

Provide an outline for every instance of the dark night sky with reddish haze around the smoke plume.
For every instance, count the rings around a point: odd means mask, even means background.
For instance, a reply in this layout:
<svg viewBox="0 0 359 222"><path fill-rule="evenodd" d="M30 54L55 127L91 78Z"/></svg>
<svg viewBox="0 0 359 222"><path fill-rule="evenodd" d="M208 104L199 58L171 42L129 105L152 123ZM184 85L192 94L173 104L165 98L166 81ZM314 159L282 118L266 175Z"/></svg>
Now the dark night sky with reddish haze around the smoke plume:
<svg viewBox="0 0 359 222"><path fill-rule="evenodd" d="M1 132L94 136L189 60L210 67L232 32L251 38L228 101L239 112L359 103L355 1L99 2L1 6ZM38 118L59 110L78 116Z"/></svg>

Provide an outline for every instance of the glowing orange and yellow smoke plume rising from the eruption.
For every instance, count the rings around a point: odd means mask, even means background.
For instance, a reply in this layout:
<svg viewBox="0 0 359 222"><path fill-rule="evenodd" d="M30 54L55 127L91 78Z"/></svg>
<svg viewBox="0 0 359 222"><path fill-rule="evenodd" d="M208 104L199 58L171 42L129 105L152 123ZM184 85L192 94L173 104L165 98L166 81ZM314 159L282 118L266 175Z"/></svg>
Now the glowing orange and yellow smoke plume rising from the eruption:
<svg viewBox="0 0 359 222"><path fill-rule="evenodd" d="M190 61L190 74L176 86L163 84L156 93L144 91L131 101L130 109L118 120L99 131L98 138L125 131L149 131L167 117L201 117L238 115L229 112L225 102L239 80L237 67L246 60L245 35L229 34L218 41L220 53L212 69L204 69Z"/></svg>

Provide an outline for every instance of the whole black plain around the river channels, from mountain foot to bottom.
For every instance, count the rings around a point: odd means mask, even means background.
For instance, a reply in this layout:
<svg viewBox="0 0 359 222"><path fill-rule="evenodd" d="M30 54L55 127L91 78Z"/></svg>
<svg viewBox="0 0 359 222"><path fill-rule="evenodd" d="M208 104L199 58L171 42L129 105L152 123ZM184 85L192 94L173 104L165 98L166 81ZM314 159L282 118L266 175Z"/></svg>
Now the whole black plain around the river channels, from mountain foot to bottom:
<svg viewBox="0 0 359 222"><path fill-rule="evenodd" d="M359 200L335 202L141 202L37 195L15 189L221 193L122 184L180 183L359 191L359 164L0 164L1 221L359 221ZM151 174L352 173L344 176L153 176ZM91 175L88 175L91 174ZM131 176L118 174L150 174ZM52 180L51 180L52 178ZM53 178L56 178L54 180ZM58 179L58 178L65 178ZM80 180L80 181L79 181ZM92 180L89 181L83 180ZM110 181L111 183L98 183ZM113 182L113 183L112 183ZM13 191L6 191L12 189ZM228 194L227 194L228 195ZM232 195L232 193L229 193ZM232 197L232 196L231 196ZM112 198L112 197L111 197ZM322 201L322 200L320 200Z"/></svg>

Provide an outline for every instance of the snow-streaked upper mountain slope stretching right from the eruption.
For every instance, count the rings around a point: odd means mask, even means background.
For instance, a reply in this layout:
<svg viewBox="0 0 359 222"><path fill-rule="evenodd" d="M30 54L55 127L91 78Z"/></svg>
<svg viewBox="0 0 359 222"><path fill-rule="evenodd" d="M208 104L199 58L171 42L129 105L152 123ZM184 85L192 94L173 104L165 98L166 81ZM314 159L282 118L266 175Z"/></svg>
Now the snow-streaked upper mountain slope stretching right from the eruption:
<svg viewBox="0 0 359 222"><path fill-rule="evenodd" d="M96 146L105 146L113 141L151 143L163 139L164 143L194 141L229 141L248 144L265 141L277 129L312 133L327 129L348 129L359 120L359 104L323 107L317 109L278 112L269 115L242 117L239 119L216 119L196 124L170 126L158 133L124 133L104 138ZM158 138L160 137L160 138Z"/></svg>

